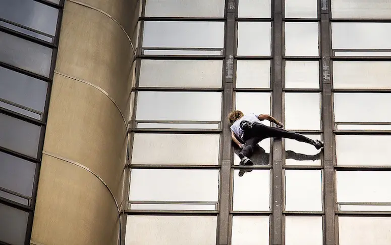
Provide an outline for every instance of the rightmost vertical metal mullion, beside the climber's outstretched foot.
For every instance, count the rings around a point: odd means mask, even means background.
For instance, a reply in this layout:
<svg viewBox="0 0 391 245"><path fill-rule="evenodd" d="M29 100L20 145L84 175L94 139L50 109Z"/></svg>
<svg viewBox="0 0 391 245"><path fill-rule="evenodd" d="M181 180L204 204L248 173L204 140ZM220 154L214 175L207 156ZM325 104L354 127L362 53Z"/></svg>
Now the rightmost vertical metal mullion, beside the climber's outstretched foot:
<svg viewBox="0 0 391 245"><path fill-rule="evenodd" d="M333 132L332 132L332 92L330 74L330 18L329 1L321 0L320 17L320 50L322 70L322 104L323 104L323 135L324 135L324 209L325 209L325 241L326 245L336 244L334 225L334 169L333 169Z"/></svg>

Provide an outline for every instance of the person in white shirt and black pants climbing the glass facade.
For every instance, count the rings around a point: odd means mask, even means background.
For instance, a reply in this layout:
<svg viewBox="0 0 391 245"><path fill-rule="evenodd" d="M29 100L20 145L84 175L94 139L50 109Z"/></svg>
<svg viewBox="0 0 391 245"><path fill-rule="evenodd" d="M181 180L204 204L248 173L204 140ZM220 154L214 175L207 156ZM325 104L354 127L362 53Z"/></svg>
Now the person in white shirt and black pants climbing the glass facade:
<svg viewBox="0 0 391 245"><path fill-rule="evenodd" d="M239 146L241 152L238 156L241 159L240 164L251 166L254 163L251 161L256 144L265 138L289 138L300 142L306 142L315 146L317 150L323 148L324 143L319 140L312 140L306 136L290 132L282 129L284 124L278 122L275 118L266 114L248 114L235 110L229 115L231 123L232 140ZM268 127L261 123L263 120L268 120L275 123L277 127Z"/></svg>

